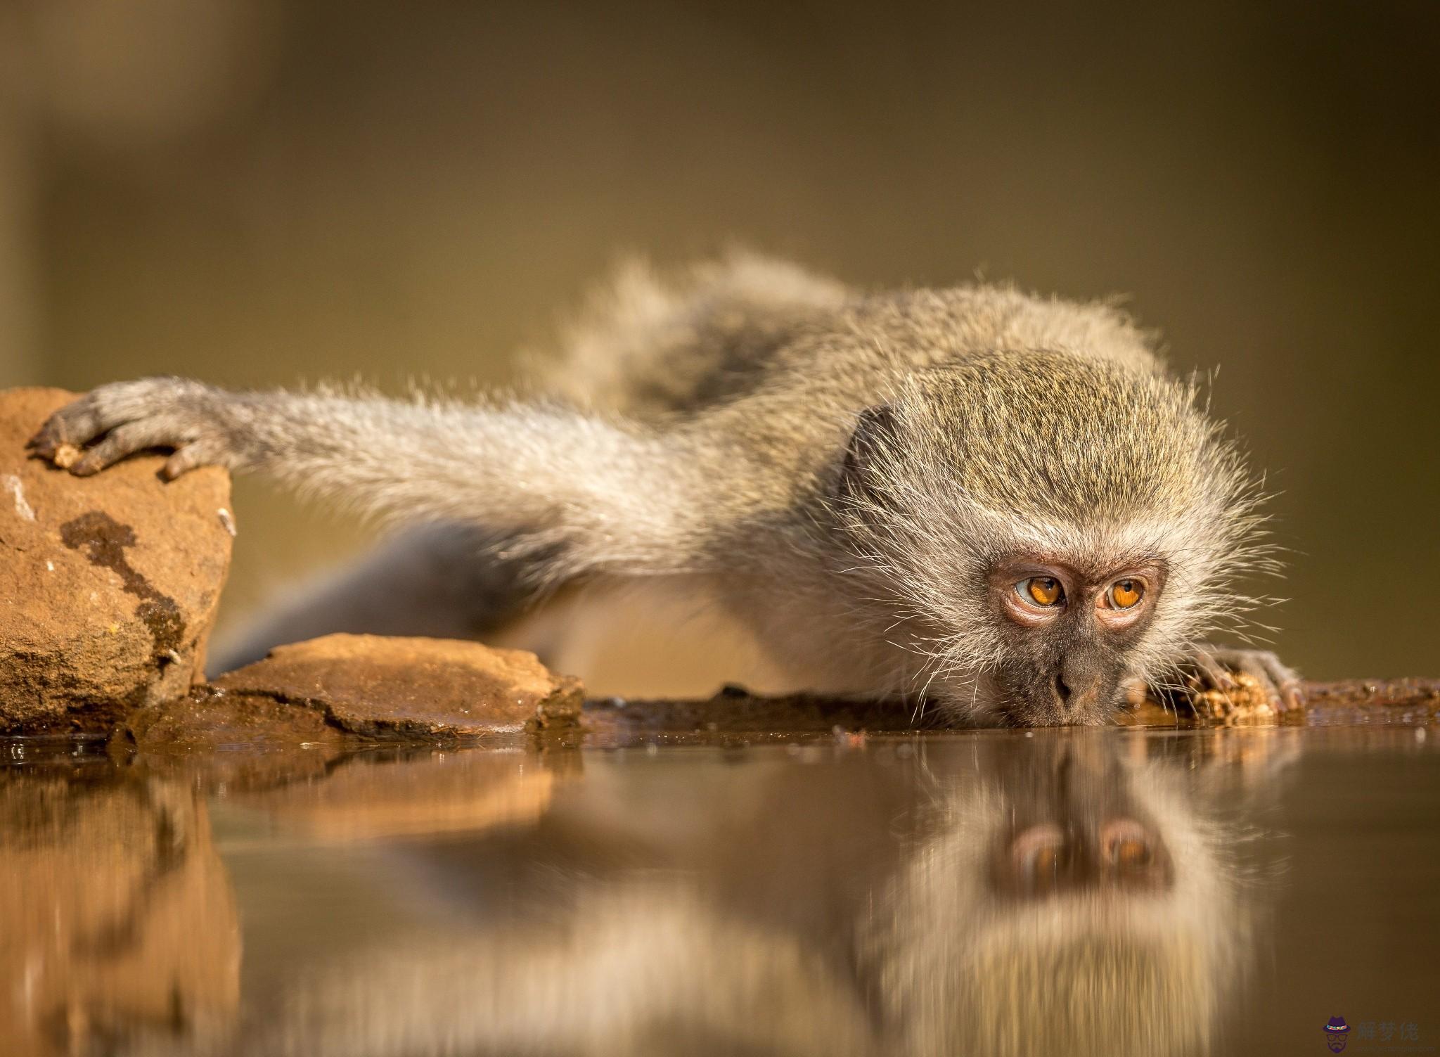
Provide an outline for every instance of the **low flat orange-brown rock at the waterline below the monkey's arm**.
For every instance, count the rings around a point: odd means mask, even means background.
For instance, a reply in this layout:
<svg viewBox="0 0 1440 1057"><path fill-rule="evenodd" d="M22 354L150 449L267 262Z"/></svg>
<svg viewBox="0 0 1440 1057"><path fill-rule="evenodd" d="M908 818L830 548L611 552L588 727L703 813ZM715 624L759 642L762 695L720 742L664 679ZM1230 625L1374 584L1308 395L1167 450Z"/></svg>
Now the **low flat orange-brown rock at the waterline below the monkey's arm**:
<svg viewBox="0 0 1440 1057"><path fill-rule="evenodd" d="M215 680L228 693L323 709L351 734L469 737L576 726L580 683L534 654L478 642L325 635Z"/></svg>

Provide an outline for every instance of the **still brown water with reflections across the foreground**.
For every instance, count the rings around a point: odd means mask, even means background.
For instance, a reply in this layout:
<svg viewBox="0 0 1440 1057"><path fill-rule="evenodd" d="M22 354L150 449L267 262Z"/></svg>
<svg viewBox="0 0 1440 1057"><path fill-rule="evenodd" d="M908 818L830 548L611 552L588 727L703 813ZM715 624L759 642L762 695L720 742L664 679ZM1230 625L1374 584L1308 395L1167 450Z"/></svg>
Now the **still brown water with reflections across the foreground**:
<svg viewBox="0 0 1440 1057"><path fill-rule="evenodd" d="M0 1051L1436 1053L1437 743L0 742Z"/></svg>

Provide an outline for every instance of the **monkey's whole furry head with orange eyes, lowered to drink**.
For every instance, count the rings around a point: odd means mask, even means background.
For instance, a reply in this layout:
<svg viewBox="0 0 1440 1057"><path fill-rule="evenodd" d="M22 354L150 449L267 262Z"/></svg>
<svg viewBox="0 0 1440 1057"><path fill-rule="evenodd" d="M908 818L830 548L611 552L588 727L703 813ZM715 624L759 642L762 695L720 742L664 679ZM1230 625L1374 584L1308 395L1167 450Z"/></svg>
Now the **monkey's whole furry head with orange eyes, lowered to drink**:
<svg viewBox="0 0 1440 1057"><path fill-rule="evenodd" d="M1227 585L1264 563L1257 497L1195 397L1156 372L1005 351L860 416L832 511L857 606L922 658L913 688L975 719L1103 723L1247 608Z"/></svg>

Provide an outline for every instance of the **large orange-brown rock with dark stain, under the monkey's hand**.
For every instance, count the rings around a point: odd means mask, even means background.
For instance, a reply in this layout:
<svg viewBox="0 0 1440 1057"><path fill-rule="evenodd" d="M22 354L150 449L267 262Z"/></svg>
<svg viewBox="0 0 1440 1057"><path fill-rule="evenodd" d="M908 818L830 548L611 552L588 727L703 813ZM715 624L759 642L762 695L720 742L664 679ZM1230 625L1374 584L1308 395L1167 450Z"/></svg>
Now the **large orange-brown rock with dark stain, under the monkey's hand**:
<svg viewBox="0 0 1440 1057"><path fill-rule="evenodd" d="M89 478L24 442L73 393L0 393L0 732L101 730L200 677L230 563L229 475Z"/></svg>

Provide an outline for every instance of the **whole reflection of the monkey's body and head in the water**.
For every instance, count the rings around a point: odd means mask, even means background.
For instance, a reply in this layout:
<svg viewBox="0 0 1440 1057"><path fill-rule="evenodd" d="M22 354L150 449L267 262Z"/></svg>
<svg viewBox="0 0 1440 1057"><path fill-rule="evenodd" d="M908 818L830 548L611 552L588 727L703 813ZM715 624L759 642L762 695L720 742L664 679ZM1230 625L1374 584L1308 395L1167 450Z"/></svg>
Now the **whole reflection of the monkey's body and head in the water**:
<svg viewBox="0 0 1440 1057"><path fill-rule="evenodd" d="M1204 775L1126 745L590 765L534 825L426 853L469 922L315 966L243 1051L1205 1053L1253 886Z"/></svg>

